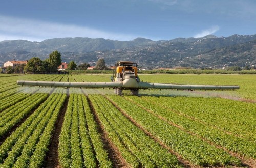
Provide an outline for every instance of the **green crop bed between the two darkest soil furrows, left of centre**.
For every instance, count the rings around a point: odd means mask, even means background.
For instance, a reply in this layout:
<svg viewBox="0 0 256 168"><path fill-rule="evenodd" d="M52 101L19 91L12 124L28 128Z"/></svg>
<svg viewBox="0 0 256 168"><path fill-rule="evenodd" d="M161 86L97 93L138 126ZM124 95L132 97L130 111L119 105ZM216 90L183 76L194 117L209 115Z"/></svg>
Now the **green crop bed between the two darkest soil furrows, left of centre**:
<svg viewBox="0 0 256 168"><path fill-rule="evenodd" d="M61 167L112 166L103 146L86 97L70 94L59 138Z"/></svg>

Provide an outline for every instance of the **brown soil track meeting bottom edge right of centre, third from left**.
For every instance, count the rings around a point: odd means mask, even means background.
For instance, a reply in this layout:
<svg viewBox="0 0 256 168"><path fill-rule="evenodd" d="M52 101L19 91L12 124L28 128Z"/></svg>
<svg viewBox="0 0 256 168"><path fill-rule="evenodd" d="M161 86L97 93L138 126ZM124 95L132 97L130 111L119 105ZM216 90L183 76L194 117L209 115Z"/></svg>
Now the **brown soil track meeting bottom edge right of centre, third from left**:
<svg viewBox="0 0 256 168"><path fill-rule="evenodd" d="M181 155L179 155L178 153L176 153L174 150L172 150L170 147L168 147L166 144L164 144L163 142L161 142L158 138L156 138L155 136L153 136L150 132L148 132L146 129L144 129L141 125L139 125L132 117L130 117L129 115L127 115L120 107L118 107L118 105L113 102L112 100L110 100L108 97L105 97L106 99L108 99L127 119L129 119L135 126L137 126L140 130L142 130L147 136L149 136L150 138L152 138L155 142L157 142L158 144L160 144L163 148L167 149L170 153L172 153L173 155L175 155L178 159L178 161L185 167L185 168L199 168L200 166L197 165L193 165L191 164L188 160L184 160L182 158Z"/></svg>

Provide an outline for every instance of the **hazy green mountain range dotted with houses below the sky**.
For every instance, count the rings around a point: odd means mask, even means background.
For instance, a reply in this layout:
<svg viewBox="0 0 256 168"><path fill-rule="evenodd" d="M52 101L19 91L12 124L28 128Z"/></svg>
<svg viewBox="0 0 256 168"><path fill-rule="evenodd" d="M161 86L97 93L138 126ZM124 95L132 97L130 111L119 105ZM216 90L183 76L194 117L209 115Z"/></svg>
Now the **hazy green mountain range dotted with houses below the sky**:
<svg viewBox="0 0 256 168"><path fill-rule="evenodd" d="M62 61L96 62L104 58L107 65L116 61L138 62L143 68L175 66L214 67L253 66L256 64L256 35L232 35L202 38L177 38L153 41L137 38L132 41L106 40L103 38L55 38L42 42L11 40L0 42L0 65L10 60L42 60L58 50Z"/></svg>

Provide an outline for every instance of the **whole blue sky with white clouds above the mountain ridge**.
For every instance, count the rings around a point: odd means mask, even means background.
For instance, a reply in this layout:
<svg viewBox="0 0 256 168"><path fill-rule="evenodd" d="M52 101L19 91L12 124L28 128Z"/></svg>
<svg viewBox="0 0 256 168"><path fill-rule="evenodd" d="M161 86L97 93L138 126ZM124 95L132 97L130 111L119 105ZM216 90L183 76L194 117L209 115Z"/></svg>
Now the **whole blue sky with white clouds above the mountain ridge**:
<svg viewBox="0 0 256 168"><path fill-rule="evenodd" d="M254 0L2 0L0 41L256 34Z"/></svg>

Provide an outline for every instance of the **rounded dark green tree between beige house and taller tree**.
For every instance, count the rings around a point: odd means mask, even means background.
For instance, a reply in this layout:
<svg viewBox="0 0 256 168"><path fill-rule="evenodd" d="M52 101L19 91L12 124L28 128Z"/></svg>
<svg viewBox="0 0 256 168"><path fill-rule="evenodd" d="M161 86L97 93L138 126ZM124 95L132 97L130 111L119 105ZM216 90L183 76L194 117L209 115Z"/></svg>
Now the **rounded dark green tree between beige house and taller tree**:
<svg viewBox="0 0 256 168"><path fill-rule="evenodd" d="M39 73L41 71L42 61L38 57L32 57L26 66L24 67L24 71L26 73Z"/></svg>

